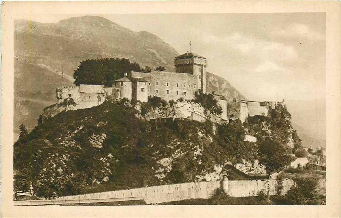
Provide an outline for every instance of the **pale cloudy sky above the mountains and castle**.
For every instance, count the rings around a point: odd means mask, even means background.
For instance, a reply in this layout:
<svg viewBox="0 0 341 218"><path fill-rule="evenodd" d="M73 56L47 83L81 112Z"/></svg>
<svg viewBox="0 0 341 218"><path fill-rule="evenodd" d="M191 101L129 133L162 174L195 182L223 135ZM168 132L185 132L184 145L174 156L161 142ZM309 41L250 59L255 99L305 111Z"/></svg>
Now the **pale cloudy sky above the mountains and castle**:
<svg viewBox="0 0 341 218"><path fill-rule="evenodd" d="M32 16L58 22L84 15ZM133 31L148 31L180 54L207 58L207 71L249 100L325 98L325 13L101 14ZM26 18L27 19L27 18Z"/></svg>

